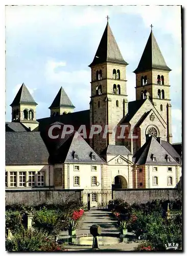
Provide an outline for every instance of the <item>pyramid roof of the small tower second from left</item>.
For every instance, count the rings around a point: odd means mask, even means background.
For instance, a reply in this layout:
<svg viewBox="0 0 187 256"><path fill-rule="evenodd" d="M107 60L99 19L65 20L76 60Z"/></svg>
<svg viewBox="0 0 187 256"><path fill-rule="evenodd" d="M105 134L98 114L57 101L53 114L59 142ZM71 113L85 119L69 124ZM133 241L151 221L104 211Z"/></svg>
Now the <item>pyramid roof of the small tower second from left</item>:
<svg viewBox="0 0 187 256"><path fill-rule="evenodd" d="M57 93L49 109L60 108L60 107L75 109L75 106L72 104L72 101L69 99L69 97L67 96L67 94L65 93L62 87Z"/></svg>

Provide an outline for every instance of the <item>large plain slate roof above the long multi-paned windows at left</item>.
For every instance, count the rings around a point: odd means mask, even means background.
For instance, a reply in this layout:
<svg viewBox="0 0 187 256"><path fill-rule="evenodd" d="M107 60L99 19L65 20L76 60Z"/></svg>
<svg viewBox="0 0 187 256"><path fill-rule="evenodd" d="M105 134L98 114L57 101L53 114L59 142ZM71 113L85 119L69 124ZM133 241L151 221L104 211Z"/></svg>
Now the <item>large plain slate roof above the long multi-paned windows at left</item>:
<svg viewBox="0 0 187 256"><path fill-rule="evenodd" d="M48 163L49 152L39 132L6 133L6 164Z"/></svg>

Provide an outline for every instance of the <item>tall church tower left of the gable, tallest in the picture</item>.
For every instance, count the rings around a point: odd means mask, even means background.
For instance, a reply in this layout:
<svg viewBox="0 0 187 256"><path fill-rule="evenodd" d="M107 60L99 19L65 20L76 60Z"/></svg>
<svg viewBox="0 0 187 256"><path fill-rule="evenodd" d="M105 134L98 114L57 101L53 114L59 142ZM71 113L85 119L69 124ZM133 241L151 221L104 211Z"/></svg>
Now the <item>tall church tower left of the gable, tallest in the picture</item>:
<svg viewBox="0 0 187 256"><path fill-rule="evenodd" d="M91 68L90 125L102 126L102 131L90 139L90 145L98 154L107 145L116 144L112 130L128 112L127 65L107 22L96 55L89 65Z"/></svg>

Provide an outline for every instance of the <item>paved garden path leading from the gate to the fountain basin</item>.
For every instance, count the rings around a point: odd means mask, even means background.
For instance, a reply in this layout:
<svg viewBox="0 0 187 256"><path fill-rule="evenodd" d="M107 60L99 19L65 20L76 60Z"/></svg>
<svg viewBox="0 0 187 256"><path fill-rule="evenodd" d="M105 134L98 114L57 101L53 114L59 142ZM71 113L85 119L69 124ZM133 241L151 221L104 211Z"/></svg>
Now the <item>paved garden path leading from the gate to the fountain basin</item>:
<svg viewBox="0 0 187 256"><path fill-rule="evenodd" d="M115 226L116 221L109 216L109 211L89 210L86 211L81 219L76 234L90 234L90 227L98 224L102 234L119 234L119 228Z"/></svg>

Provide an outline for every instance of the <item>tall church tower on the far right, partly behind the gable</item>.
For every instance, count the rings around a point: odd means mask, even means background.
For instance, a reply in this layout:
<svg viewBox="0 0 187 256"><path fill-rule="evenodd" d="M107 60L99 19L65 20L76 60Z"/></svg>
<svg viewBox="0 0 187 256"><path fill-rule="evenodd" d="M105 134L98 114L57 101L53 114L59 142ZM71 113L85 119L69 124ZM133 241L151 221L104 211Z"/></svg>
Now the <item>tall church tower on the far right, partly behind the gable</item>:
<svg viewBox="0 0 187 256"><path fill-rule="evenodd" d="M165 59L151 33L148 38L138 67L134 70L136 74L136 100L149 97L152 104L167 125L166 136L168 142L172 143L171 130L171 99L169 72Z"/></svg>

